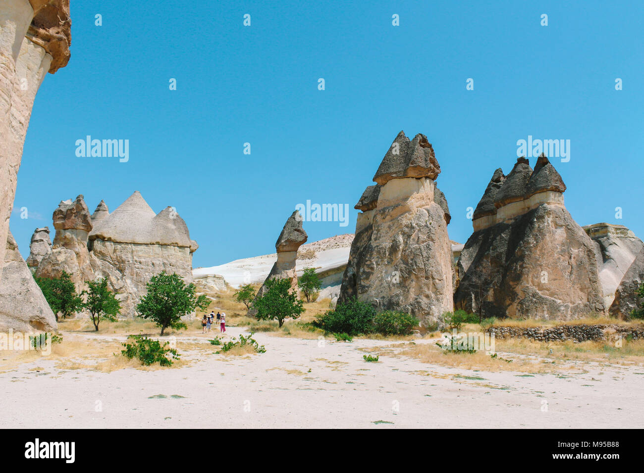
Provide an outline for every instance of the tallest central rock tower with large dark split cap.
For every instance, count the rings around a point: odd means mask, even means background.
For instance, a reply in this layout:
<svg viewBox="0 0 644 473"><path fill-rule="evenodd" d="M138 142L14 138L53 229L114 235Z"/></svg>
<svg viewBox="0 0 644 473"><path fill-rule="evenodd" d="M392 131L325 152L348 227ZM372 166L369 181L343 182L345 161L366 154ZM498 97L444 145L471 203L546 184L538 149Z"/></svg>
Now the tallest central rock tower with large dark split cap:
<svg viewBox="0 0 644 473"><path fill-rule="evenodd" d="M357 297L424 322L453 309L449 209L424 134L396 136L355 209L355 238L338 302Z"/></svg>

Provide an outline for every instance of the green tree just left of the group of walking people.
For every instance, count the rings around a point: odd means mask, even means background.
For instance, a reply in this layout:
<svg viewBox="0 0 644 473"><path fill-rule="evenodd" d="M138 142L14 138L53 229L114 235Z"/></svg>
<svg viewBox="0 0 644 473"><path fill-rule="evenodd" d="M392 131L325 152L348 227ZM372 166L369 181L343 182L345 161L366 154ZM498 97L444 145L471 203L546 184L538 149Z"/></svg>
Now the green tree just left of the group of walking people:
<svg viewBox="0 0 644 473"><path fill-rule="evenodd" d="M204 294L196 297L194 291L194 284L185 284L176 273L155 274L147 283L147 294L137 304L138 315L160 326L161 335L167 327L187 328L181 317L208 306L208 298Z"/></svg>

